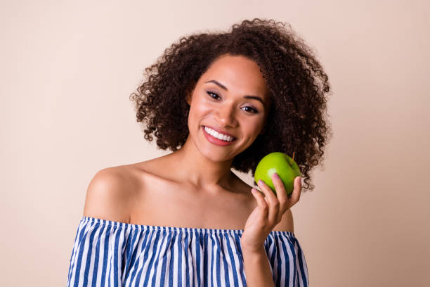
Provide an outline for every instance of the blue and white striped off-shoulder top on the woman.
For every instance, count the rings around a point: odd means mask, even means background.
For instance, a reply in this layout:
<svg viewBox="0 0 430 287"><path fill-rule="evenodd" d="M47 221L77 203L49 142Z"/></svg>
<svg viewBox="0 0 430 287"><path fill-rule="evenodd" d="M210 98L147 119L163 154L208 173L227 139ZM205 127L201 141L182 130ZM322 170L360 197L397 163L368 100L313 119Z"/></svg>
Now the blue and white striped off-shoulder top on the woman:
<svg viewBox="0 0 430 287"><path fill-rule="evenodd" d="M247 286L243 229L129 224L82 217L67 286ZM299 241L271 231L264 248L275 286L308 286Z"/></svg>

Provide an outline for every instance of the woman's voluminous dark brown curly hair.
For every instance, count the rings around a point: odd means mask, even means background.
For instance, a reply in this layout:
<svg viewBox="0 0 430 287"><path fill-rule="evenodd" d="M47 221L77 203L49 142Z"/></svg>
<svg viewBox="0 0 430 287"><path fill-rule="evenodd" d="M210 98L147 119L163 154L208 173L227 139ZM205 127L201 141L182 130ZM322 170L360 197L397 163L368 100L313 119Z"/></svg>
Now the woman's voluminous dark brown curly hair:
<svg viewBox="0 0 430 287"><path fill-rule="evenodd" d="M190 34L165 49L155 64L145 68L145 81L130 95L144 137L157 138L157 147L176 151L188 137L185 101L200 76L225 54L245 56L259 65L266 79L271 107L266 132L235 156L232 168L254 172L259 160L275 151L292 156L299 165L304 186L312 191L309 172L322 162L331 135L325 122L328 77L315 53L292 31L275 20L243 20L228 32Z"/></svg>

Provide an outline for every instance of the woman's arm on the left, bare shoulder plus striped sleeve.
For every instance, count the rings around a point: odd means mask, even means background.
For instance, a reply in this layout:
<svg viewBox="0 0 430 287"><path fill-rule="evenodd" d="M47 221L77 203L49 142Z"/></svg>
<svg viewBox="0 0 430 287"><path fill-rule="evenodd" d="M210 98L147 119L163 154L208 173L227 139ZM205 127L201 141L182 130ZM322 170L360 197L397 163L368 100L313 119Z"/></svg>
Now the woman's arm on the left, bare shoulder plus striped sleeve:
<svg viewBox="0 0 430 287"><path fill-rule="evenodd" d="M83 218L77 229L67 287L121 286L126 229L100 219L127 222L130 200L124 179L119 170L108 168L91 180L84 208L90 218Z"/></svg>

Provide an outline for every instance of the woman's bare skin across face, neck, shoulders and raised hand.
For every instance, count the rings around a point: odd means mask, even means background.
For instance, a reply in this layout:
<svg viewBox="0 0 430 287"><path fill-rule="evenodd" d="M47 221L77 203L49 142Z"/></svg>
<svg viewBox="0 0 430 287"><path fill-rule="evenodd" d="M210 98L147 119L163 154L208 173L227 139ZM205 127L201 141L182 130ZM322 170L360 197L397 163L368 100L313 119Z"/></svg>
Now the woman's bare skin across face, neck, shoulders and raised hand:
<svg viewBox="0 0 430 287"><path fill-rule="evenodd" d="M216 80L228 91L210 80ZM245 95L258 96L263 103L244 98ZM252 187L230 170L235 155L245 151L264 132L271 103L259 66L243 56L221 56L200 77L186 100L190 105L190 134L185 144L159 158L100 172L100 177L104 175L110 181L116 177L121 184L117 185L115 196L110 196L112 200L100 200L103 195L96 191L100 181L93 179L84 215L156 226L245 226L247 232L242 238L244 243L249 242L245 245L249 250L254 243L266 239L269 229L292 231L289 208L297 202L299 189L287 198L278 183L280 200L265 184L259 184L263 193L251 193ZM222 129L237 139L229 146L216 146L206 139L202 126ZM105 185L101 184L100 189L105 190ZM280 225L282 218L284 223Z"/></svg>

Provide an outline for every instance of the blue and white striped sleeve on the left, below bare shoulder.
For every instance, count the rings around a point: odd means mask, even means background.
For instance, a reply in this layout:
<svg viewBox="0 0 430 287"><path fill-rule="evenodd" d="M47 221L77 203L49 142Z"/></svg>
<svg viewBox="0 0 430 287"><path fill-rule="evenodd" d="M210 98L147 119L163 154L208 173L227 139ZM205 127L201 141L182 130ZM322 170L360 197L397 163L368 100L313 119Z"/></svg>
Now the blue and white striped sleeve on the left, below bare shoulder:
<svg viewBox="0 0 430 287"><path fill-rule="evenodd" d="M100 219L82 218L74 239L69 286L122 286L126 229Z"/></svg>

